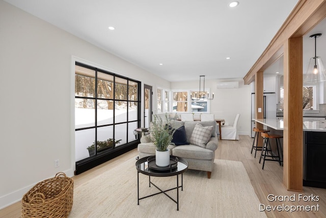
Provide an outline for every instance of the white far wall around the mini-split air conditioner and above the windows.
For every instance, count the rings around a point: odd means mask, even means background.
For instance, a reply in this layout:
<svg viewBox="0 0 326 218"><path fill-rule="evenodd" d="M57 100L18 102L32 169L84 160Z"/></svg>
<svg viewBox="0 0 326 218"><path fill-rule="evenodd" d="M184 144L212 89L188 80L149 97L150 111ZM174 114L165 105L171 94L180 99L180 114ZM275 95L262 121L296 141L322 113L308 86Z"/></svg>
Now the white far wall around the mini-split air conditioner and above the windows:
<svg viewBox="0 0 326 218"><path fill-rule="evenodd" d="M218 82L239 81L237 89L217 89ZM172 82L171 89L199 89L198 81ZM214 99L210 100L210 113L215 118L224 118L229 125L237 113L240 113L238 131L240 135L251 135L251 86L244 85L242 79L205 80L205 89L214 92Z"/></svg>

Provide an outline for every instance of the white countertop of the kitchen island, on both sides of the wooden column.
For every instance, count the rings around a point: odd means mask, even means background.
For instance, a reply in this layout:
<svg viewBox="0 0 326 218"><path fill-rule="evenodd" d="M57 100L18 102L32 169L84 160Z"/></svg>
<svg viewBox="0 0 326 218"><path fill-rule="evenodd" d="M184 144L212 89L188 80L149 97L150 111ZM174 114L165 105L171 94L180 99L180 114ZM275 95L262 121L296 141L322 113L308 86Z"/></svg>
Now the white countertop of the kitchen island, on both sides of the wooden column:
<svg viewBox="0 0 326 218"><path fill-rule="evenodd" d="M314 132L326 132L326 118L303 117L303 130ZM283 117L275 119L253 119L256 122L275 130L283 130Z"/></svg>

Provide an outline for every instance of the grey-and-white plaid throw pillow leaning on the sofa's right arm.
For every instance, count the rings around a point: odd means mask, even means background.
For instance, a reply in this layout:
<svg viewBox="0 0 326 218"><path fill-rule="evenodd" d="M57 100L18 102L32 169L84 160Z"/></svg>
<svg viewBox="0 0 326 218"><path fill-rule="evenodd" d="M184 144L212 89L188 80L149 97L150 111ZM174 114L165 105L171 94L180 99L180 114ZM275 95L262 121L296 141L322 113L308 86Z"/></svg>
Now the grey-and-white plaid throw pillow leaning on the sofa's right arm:
<svg viewBox="0 0 326 218"><path fill-rule="evenodd" d="M205 148L211 137L212 131L213 126L203 127L201 124L196 124L189 142L196 146Z"/></svg>

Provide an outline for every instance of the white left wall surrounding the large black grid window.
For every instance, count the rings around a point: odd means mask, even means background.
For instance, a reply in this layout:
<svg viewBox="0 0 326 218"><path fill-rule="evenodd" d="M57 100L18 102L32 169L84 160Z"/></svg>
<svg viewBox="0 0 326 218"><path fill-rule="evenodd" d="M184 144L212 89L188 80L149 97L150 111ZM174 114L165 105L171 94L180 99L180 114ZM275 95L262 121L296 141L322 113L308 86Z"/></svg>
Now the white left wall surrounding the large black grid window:
<svg viewBox="0 0 326 218"><path fill-rule="evenodd" d="M73 175L74 57L142 86L159 81L170 88L169 81L3 1L0 39L0 209L57 172Z"/></svg>

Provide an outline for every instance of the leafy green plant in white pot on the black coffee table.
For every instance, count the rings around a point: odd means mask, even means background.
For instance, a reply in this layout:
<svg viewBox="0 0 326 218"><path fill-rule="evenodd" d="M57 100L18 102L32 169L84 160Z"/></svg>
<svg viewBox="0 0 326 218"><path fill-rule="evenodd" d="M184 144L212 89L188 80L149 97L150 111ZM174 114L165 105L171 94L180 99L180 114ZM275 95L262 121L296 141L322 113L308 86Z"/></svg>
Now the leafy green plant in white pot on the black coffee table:
<svg viewBox="0 0 326 218"><path fill-rule="evenodd" d="M168 166L170 164L170 149L168 149L168 146L171 144L175 131L175 129L171 128L171 120L167 114L165 114L165 120L156 114L154 115L149 132L156 148L155 162L157 166Z"/></svg>

